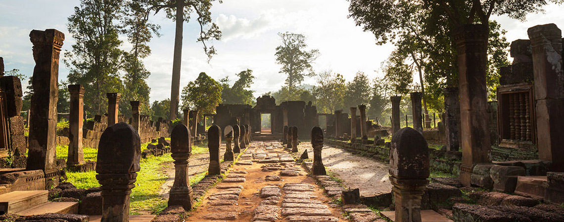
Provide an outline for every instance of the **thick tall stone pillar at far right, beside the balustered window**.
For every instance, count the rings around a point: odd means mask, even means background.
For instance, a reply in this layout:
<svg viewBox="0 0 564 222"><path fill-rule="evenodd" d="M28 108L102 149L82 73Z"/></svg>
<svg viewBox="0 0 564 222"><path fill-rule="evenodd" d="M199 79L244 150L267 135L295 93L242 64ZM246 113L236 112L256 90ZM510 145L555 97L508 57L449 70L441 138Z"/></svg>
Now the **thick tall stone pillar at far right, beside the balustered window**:
<svg viewBox="0 0 564 222"><path fill-rule="evenodd" d="M539 158L550 171L564 171L564 74L562 31L554 24L527 30L535 78L536 134Z"/></svg>

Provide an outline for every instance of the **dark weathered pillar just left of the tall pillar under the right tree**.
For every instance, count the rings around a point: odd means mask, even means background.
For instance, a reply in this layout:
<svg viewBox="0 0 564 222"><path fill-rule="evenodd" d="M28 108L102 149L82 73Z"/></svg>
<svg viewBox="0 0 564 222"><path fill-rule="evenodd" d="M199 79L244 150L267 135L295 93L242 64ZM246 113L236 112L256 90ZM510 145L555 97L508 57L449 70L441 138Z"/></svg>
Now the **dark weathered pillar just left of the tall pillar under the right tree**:
<svg viewBox="0 0 564 222"><path fill-rule="evenodd" d="M460 128L460 100L459 89L448 87L444 89L444 125L446 128L447 151L459 151Z"/></svg>

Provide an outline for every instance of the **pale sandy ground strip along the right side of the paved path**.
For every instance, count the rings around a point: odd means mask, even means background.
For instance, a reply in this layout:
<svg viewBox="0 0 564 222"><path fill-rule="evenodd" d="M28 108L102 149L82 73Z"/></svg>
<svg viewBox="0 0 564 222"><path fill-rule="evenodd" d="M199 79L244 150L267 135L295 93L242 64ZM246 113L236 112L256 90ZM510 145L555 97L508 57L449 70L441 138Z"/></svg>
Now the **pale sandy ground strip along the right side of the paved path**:
<svg viewBox="0 0 564 222"><path fill-rule="evenodd" d="M306 148L307 155L313 158L310 142L300 143L299 153L303 153ZM323 147L321 156L325 167L341 179L346 188L360 188L360 196L371 197L391 191L387 164L328 146Z"/></svg>

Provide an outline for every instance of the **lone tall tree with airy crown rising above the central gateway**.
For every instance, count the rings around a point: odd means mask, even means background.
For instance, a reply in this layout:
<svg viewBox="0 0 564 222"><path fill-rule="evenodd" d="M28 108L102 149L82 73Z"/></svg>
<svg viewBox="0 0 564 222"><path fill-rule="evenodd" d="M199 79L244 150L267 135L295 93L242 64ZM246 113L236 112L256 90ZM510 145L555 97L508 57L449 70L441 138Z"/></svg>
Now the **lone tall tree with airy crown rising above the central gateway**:
<svg viewBox="0 0 564 222"><path fill-rule="evenodd" d="M286 84L292 92L304 76L315 76L311 63L319 57L318 49L307 51L306 37L296 33L278 33L282 45L276 47L276 63L282 65L279 73L288 75Z"/></svg>

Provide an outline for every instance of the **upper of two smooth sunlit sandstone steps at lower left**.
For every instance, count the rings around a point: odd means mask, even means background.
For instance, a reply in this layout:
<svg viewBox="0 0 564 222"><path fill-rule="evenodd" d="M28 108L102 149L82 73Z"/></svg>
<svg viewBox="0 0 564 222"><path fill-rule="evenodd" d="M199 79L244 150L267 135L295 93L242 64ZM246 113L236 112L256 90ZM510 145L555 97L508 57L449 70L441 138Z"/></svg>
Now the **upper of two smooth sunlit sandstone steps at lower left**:
<svg viewBox="0 0 564 222"><path fill-rule="evenodd" d="M49 191L12 191L0 195L0 214L23 211L47 202Z"/></svg>

